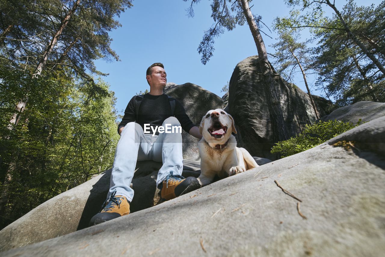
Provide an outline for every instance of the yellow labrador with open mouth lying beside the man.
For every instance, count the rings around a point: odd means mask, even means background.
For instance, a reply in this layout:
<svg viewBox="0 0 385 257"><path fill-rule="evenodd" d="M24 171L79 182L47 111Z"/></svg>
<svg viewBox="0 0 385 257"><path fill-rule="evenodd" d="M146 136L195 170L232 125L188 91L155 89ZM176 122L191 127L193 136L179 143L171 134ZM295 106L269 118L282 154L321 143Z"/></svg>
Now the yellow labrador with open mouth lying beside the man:
<svg viewBox="0 0 385 257"><path fill-rule="evenodd" d="M231 132L237 133L231 115L222 109L209 110L203 116L199 132L203 135L198 143L201 155L202 186L213 182L215 175L225 178L258 167L249 152L236 147L237 142Z"/></svg>

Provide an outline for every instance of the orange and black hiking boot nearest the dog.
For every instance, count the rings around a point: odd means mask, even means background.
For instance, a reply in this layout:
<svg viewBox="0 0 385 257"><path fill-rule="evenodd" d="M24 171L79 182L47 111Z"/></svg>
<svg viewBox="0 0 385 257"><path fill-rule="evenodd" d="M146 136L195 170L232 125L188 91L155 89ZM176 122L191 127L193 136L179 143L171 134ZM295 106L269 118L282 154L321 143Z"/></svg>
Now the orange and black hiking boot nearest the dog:
<svg viewBox="0 0 385 257"><path fill-rule="evenodd" d="M201 188L198 179L194 177L183 178L180 175L172 174L171 171L161 184L161 198L171 200L198 188Z"/></svg>

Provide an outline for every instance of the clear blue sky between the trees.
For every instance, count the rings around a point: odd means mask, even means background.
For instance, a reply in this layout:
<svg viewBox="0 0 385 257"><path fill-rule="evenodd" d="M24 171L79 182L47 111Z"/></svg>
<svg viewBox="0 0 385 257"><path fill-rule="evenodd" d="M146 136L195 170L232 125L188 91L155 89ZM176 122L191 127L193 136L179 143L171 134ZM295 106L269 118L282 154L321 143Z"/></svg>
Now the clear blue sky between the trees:
<svg viewBox="0 0 385 257"><path fill-rule="evenodd" d="M378 5L380 2L356 1L357 5ZM345 0L336 0L339 9L345 3ZM133 4L134 6L127 9L118 19L122 27L110 32L113 39L111 48L119 55L121 61L95 61L99 71L109 73L102 78L110 84L110 90L115 92L116 108L121 114L132 96L140 90L149 89L146 69L152 63L164 64L167 82L191 82L223 96L221 89L230 80L236 64L257 54L253 37L246 24L226 31L217 38L213 57L206 65L201 63L197 48L204 31L213 24L209 0L202 0L194 6L193 18L187 17L186 8L189 7L189 2L183 0L134 0ZM254 0L250 6L253 4L253 14L261 15L262 21L272 30L270 33L266 27L261 29L273 37L270 39L262 35L267 52L274 53L269 47L276 42L277 37L272 28L273 20L275 17L288 15L290 8L283 0ZM324 9L328 8L325 6ZM294 82L306 91L301 74L297 74ZM313 79L309 81L310 85L314 82ZM322 95L322 92L316 91L315 88L312 93Z"/></svg>

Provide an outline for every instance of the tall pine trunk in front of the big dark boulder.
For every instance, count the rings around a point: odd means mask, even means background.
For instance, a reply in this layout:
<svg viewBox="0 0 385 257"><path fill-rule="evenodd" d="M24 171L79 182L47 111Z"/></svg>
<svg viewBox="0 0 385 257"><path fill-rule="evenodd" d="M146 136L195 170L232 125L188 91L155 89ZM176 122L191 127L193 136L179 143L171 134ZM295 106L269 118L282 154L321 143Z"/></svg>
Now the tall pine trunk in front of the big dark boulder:
<svg viewBox="0 0 385 257"><path fill-rule="evenodd" d="M261 71L263 73L263 87L266 95L266 101L268 105L271 130L273 132L274 142L279 142L282 140L288 139L287 129L285 120L283 119L283 114L280 106L280 101L278 100L278 95L275 90L273 71L270 67L266 47L259 33L257 24L255 23L253 14L249 9L249 3L247 0L238 0L239 5L241 5L244 15L246 16L247 23L253 35L255 45L258 51L259 64L261 65Z"/></svg>

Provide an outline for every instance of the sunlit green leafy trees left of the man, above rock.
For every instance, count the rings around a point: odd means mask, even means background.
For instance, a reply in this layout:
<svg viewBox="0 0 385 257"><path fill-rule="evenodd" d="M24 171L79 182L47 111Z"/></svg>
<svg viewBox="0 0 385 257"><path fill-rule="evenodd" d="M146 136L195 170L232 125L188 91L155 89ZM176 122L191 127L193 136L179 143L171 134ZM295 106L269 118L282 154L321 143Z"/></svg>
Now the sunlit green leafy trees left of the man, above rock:
<svg viewBox="0 0 385 257"><path fill-rule="evenodd" d="M26 84L31 90L23 117L28 118L11 131L9 118ZM34 78L1 66L0 99L1 183L9 172L12 178L1 228L112 166L119 140L115 97L103 81L94 86L64 72Z"/></svg>

